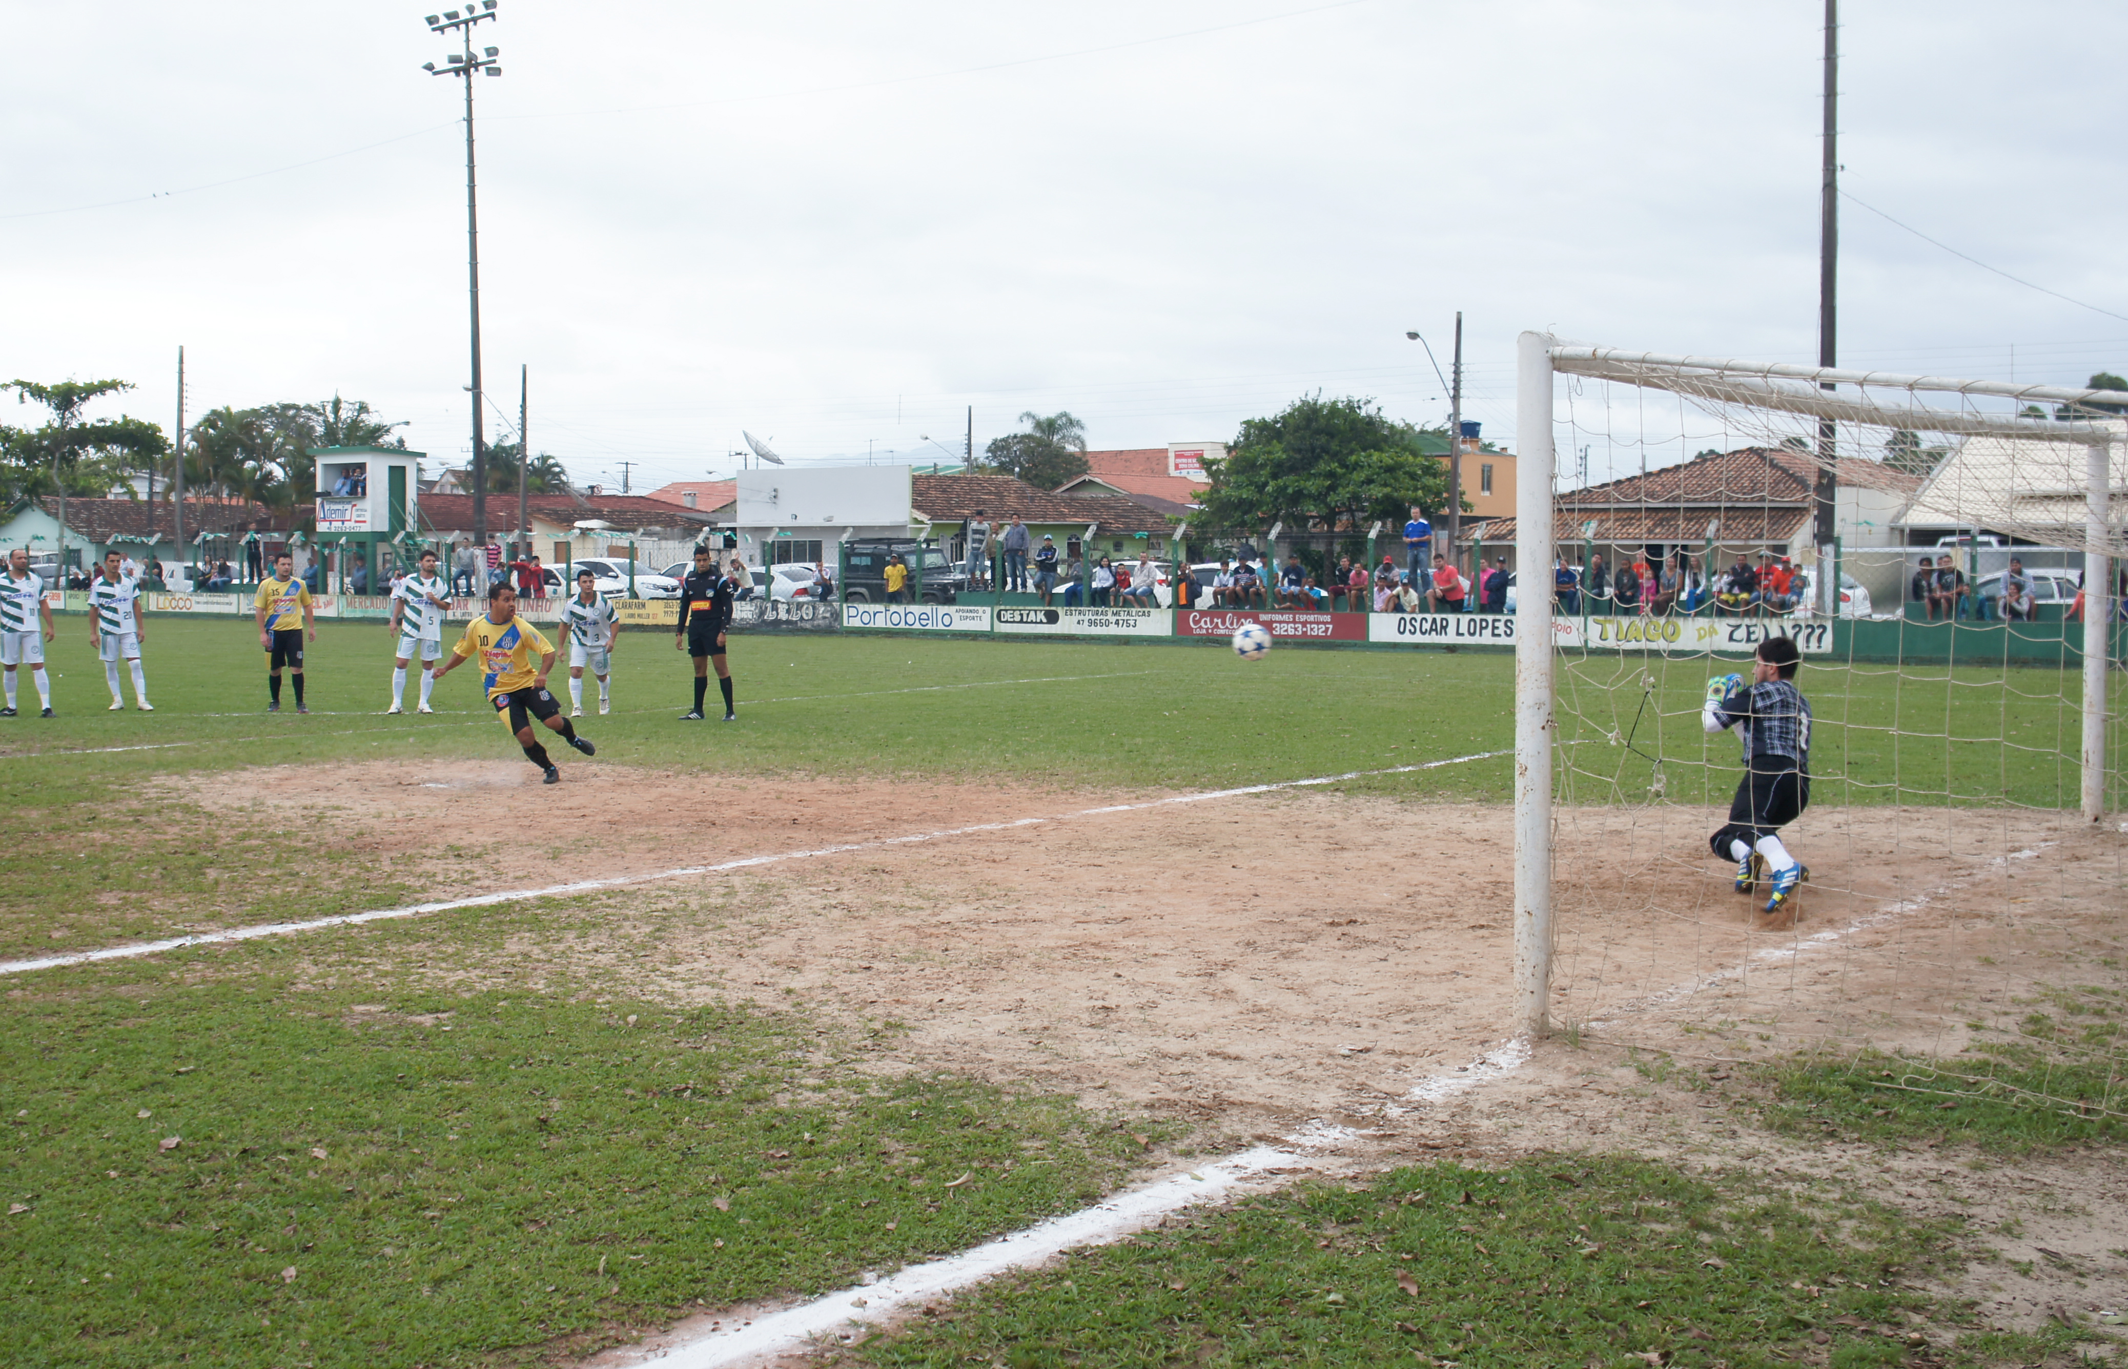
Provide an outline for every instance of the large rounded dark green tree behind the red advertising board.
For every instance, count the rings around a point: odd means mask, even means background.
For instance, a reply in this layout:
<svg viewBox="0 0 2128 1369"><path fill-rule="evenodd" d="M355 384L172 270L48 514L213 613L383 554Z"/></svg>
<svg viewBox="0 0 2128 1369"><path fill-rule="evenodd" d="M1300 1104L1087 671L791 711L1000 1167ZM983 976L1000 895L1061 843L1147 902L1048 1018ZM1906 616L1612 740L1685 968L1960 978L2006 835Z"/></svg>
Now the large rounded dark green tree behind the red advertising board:
<svg viewBox="0 0 2128 1369"><path fill-rule="evenodd" d="M1211 489L1192 525L1202 531L1366 531L1375 519L1402 525L1404 512L1447 506L1449 472L1424 432L1381 412L1373 400L1294 400L1273 419L1249 419L1224 459L1204 463ZM1464 500L1464 508L1470 502Z"/></svg>

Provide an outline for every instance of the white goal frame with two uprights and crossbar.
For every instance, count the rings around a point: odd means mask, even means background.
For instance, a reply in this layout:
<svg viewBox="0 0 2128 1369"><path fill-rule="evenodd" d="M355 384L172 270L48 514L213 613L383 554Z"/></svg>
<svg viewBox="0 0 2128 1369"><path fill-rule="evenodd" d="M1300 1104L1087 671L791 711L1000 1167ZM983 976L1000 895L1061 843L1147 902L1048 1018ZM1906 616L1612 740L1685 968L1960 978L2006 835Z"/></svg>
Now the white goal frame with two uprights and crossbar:
<svg viewBox="0 0 2128 1369"><path fill-rule="evenodd" d="M1690 404L1707 415L1749 412L1764 419L1751 432L1779 432L1775 415L1800 417L1815 425L1815 442L1809 436L1813 429L1796 427L1794 419L1788 423L1800 436L1790 436L1781 446L1768 442L1775 455L1800 463L1832 461L1828 436L1834 432L1843 434L1845 451L1856 451L1856 434L1866 432L1896 434L1898 440L1913 440L1915 434L1936 434L1951 442L1979 438L2013 453L2043 451L2043 459L2005 459L1992 468L1994 474L1962 476L1973 485L1956 493L1962 500L1960 514L1971 517L1975 529L1988 527L1992 534L2002 534L2005 542L2011 538L2043 540L2068 555L2077 548L2083 553L2081 746L2075 765L2083 816L2092 823L2105 816L2107 653L2115 619L2111 563L2128 555L2122 527L2113 521L2109 487L2119 480L2117 453L2128 446L2128 423L2122 421L2128 395L2047 385L1628 353L1562 344L1549 334L1526 332L1517 342L1515 402L1515 440L1522 468L1515 491L1519 587L1515 625L1515 1005L1519 1031L1543 1035L1549 1029L1553 787L1560 746L1556 661L1562 633L1564 638L1575 633L1573 621L1556 621L1562 614L1556 614L1551 593L1558 551L1553 525L1558 376L1626 385L1643 393L1664 391L1675 395L1679 404ZM1930 451L1949 453L1954 449ZM2077 461L2077 455L2083 459ZM1645 470L1643 455L1643 478ZM1975 531L1973 542L1981 542L1979 531ZM2068 565L2073 563L2071 559ZM1713 565L1707 570L1711 572ZM1841 595L1839 565L1819 565L1815 574L1822 576L1819 589L1836 604ZM1828 580L1832 580L1830 589L1826 589ZM2068 629L2064 627L2062 633L2066 640Z"/></svg>

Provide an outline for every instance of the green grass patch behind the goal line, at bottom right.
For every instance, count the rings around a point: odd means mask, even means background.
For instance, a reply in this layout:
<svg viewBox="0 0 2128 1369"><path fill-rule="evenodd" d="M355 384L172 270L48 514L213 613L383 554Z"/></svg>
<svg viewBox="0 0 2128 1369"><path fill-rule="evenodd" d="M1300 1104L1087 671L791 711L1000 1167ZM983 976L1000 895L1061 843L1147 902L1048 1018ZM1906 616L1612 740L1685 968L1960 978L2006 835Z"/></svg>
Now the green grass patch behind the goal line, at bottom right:
<svg viewBox="0 0 2128 1369"><path fill-rule="evenodd" d="M1653 1163L1439 1163L1170 1222L985 1286L862 1354L896 1369L1900 1365L1915 1329L1966 1333L1960 1307L1911 1286L1951 1252L1947 1229L1885 1207ZM2068 1339L1996 1335L1951 1363Z"/></svg>

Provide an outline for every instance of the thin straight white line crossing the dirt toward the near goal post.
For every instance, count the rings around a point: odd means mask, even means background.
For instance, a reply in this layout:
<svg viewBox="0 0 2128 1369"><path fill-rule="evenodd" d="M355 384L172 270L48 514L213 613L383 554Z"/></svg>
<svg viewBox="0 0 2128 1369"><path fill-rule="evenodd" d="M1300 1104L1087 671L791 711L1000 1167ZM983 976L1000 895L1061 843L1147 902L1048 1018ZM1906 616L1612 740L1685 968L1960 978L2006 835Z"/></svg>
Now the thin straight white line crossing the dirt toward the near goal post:
<svg viewBox="0 0 2128 1369"><path fill-rule="evenodd" d="M1345 774L1315 776L1311 780L1275 780L1270 784L1241 784L1236 789L1213 789L1207 793L1181 793L1166 799L1147 799L1143 804L1107 804L1102 808L1081 808L1077 812L1064 812L1047 818L1011 818L1007 823L972 823L968 827L947 827L941 831L917 831L900 838L877 838L870 842L841 842L836 846L815 846L811 850L781 850L775 855L741 857L736 861L719 861L715 865L681 865L677 869L658 869L651 874L624 874L604 880L575 880L568 884L545 884L538 889L509 889L502 893L477 893L464 899L438 899L432 903L406 903L402 908L375 908L370 912L345 912L330 918L306 918L302 923L260 923L255 927L226 927L221 931L200 931L194 935L166 937L162 942L132 942L128 946L104 946L100 950L74 950L66 954L47 954L32 961L0 961L0 976L6 974L32 974L38 969L60 969L64 965L85 965L92 961L126 961L143 954L162 954L164 950L183 950L185 946L211 946L219 942L249 942L255 937L292 935L298 931L319 931L326 927L358 927L362 923L379 923L385 918L413 918L428 912L451 912L455 908L492 908L494 903L519 903L526 899L566 899L581 893L596 893L600 889L621 889L628 884L651 884L655 880L679 880L698 874L724 874L728 869L751 869L755 865L781 865L785 861L817 861L819 857L847 855L851 850L881 850L887 846L915 846L919 842L943 842L947 838L964 838L983 831L1011 831L1015 827L1038 827L1043 823L1066 823L1070 818L1092 818L1111 812L1143 812L1147 808L1170 808L1175 804L1204 804L1211 799L1234 799L1251 793L1275 793L1281 789L1309 789L1317 784L1336 784L1341 780L1360 780L1370 776L1387 774L1413 774L1419 770L1441 770L1443 765L1466 765L1470 761L1490 761L1494 757L1513 755L1511 750L1479 750L1466 757L1449 757L1445 761L1419 761L1415 765L1392 765L1387 770L1349 770Z"/></svg>

